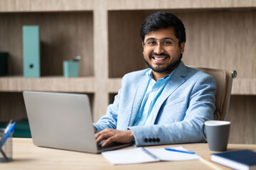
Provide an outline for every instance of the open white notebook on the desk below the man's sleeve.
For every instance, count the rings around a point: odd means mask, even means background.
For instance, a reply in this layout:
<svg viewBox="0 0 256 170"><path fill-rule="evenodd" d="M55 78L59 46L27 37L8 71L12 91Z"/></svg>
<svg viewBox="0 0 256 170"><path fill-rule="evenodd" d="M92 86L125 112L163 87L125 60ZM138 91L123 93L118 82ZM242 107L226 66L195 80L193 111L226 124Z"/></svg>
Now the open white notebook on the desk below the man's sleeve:
<svg viewBox="0 0 256 170"><path fill-rule="evenodd" d="M187 151L183 147L171 147ZM145 152L146 150L146 152ZM140 164L145 162L159 162L159 161L186 161L200 159L197 154L186 154L182 152L171 152L164 148L150 149L150 148L135 148L135 149L121 149L108 152L102 152L102 155L111 164Z"/></svg>

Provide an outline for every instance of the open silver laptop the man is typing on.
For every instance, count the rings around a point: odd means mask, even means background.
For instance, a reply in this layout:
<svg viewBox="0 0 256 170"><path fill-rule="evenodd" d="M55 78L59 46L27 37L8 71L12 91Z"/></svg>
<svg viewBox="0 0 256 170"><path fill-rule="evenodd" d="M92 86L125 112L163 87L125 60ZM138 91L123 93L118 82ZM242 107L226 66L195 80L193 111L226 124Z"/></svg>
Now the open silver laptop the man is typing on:
<svg viewBox="0 0 256 170"><path fill-rule="evenodd" d="M23 98L34 145L90 153L131 145L97 145L86 94L24 91Z"/></svg>

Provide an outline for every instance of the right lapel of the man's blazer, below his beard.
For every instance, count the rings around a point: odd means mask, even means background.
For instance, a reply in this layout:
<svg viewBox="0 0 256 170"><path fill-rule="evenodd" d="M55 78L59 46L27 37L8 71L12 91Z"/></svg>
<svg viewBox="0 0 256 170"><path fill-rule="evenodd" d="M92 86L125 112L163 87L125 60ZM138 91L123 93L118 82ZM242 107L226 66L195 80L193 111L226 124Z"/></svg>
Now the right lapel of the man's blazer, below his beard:
<svg viewBox="0 0 256 170"><path fill-rule="evenodd" d="M156 116L158 115L160 108L164 101L166 101L166 98L168 98L176 89L178 89L181 84L185 82L185 79L183 77L186 77L186 66L181 62L174 74L172 75L170 81L166 84L164 91L161 93L161 96L159 96L158 100L155 103L154 109L152 111L153 119L156 120Z"/></svg>

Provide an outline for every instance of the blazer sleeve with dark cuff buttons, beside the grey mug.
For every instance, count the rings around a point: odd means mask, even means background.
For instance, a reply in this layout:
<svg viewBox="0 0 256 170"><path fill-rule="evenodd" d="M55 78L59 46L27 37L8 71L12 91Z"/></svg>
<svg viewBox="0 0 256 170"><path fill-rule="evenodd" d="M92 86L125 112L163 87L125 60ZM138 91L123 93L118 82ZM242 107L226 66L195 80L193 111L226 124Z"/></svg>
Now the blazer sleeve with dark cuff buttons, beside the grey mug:
<svg viewBox="0 0 256 170"><path fill-rule="evenodd" d="M215 79L209 75L201 77L188 94L189 102L183 120L163 125L129 127L135 145L204 142L202 126L206 120L213 120L215 92Z"/></svg>

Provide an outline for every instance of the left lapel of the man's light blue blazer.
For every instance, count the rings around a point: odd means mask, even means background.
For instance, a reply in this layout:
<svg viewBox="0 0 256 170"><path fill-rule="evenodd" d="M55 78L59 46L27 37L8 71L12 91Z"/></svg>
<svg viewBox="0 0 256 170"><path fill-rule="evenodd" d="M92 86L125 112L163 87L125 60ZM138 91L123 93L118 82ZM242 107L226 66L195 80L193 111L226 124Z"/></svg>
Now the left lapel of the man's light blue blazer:
<svg viewBox="0 0 256 170"><path fill-rule="evenodd" d="M144 94L146 93L146 89L147 89L148 84L149 84L149 77L146 74L144 77L142 77L140 79L139 84L137 86L137 91L135 93L134 101L132 103L132 109L131 109L131 112L130 112L130 119L129 119L128 126L132 126L132 124L134 123L136 115L137 115L137 113L139 111L139 108L142 104Z"/></svg>

